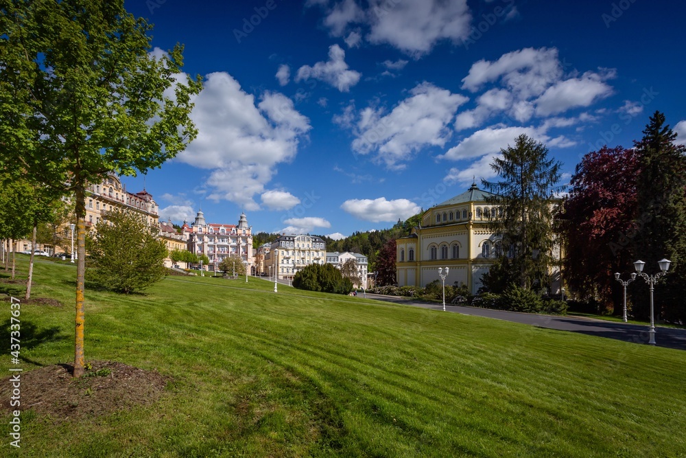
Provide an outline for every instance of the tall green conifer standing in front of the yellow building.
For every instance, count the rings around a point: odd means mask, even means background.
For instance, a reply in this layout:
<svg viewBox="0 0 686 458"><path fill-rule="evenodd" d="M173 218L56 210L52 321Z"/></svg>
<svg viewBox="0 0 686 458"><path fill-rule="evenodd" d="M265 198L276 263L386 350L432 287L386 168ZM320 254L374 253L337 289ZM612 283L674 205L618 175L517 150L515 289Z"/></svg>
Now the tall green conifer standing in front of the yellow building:
<svg viewBox="0 0 686 458"><path fill-rule="evenodd" d="M491 225L504 247L498 262L521 288L543 288L554 244L550 196L558 190L561 165L549 159L545 145L524 134L501 153L490 165L499 181L482 180L494 194L487 202L498 207ZM512 258L506 256L509 247Z"/></svg>

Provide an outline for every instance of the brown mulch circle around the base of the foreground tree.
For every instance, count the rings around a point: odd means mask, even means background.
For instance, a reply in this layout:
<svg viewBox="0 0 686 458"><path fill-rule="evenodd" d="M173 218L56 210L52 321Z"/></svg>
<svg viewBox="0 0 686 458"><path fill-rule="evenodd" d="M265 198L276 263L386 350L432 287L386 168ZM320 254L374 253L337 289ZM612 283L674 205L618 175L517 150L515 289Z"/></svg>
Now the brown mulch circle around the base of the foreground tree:
<svg viewBox="0 0 686 458"><path fill-rule="evenodd" d="M156 371L146 371L113 361L91 361L81 378L73 378L67 364L21 372L21 411L32 409L38 418L54 422L107 415L123 409L150 404L160 398L171 379ZM0 380L0 409L10 406L12 383Z"/></svg>

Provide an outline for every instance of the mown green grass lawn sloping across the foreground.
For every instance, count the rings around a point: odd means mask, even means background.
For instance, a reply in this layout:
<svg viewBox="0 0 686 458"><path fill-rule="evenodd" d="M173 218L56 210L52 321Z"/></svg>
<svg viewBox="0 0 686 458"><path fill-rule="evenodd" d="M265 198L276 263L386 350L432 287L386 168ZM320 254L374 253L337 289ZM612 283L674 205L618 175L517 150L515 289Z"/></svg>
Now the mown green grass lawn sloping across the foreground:
<svg viewBox="0 0 686 458"><path fill-rule="evenodd" d="M22 306L43 336L22 336L24 371L73 362L75 267L39 260L34 273L32 295L64 307ZM273 288L167 277L145 295L86 290L86 360L173 381L154 404L78 422L24 411L21 450L3 413L0 455L686 457L686 352Z"/></svg>

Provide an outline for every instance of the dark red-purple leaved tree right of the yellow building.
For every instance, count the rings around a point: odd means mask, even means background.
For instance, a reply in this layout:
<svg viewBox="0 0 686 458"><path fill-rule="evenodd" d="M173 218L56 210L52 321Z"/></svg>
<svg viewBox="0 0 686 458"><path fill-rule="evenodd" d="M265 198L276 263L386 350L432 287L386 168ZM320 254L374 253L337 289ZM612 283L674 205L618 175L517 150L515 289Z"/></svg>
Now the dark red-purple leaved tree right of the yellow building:
<svg viewBox="0 0 686 458"><path fill-rule="evenodd" d="M632 262L626 236L620 234L632 228L638 173L636 150L604 146L589 152L576 165L564 204L565 282L605 306L614 302L615 314L622 313L617 306L622 297L613 273L626 271Z"/></svg>

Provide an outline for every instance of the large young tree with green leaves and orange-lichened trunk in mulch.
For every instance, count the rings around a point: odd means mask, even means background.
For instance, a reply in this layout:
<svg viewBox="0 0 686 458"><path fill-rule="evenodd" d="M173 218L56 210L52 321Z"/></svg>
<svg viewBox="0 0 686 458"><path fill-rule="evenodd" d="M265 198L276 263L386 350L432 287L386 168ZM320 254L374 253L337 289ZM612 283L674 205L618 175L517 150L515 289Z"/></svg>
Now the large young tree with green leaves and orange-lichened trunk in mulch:
<svg viewBox="0 0 686 458"><path fill-rule="evenodd" d="M180 45L154 56L152 26L123 0L9 0L0 30L0 168L21 168L75 201L80 377L86 187L110 173L145 173L182 151L196 136L189 114L200 77L179 78Z"/></svg>

